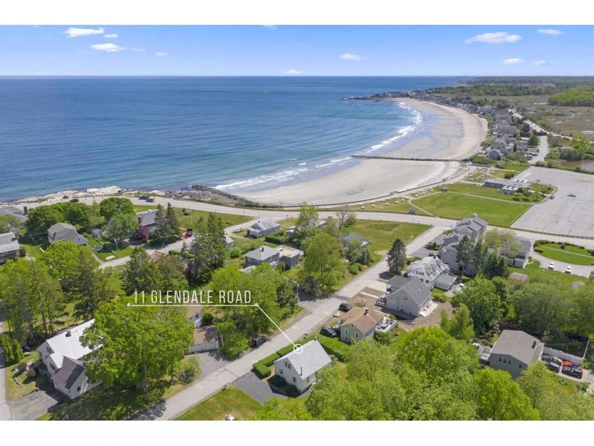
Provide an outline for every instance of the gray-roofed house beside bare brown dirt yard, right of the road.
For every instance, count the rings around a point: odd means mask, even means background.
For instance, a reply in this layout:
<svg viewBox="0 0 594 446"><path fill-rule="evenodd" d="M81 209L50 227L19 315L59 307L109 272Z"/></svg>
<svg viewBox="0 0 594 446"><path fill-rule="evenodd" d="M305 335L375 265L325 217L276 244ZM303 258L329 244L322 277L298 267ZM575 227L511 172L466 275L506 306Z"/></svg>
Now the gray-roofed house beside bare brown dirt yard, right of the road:
<svg viewBox="0 0 594 446"><path fill-rule="evenodd" d="M386 293L386 309L415 318L431 304L431 289L416 277L394 276Z"/></svg>

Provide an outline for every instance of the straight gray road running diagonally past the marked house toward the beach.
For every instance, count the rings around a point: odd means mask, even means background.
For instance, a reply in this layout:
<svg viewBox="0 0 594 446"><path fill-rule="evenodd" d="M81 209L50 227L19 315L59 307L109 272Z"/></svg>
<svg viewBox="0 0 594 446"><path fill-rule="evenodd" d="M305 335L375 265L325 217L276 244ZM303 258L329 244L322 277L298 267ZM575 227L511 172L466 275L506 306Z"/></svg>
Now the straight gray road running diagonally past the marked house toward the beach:
<svg viewBox="0 0 594 446"><path fill-rule="evenodd" d="M419 235L415 240L406 246L406 254L410 255L421 249L429 241L444 231L444 227L433 227L424 234ZM228 365L200 378L191 387L173 395L171 398L157 405L153 409L137 417L138 420L170 420L181 415L194 404L200 403L210 395L220 391L226 385L232 384L236 379L249 373L254 362L275 353L280 348L289 344L289 340L298 343L299 339L311 334L323 324L334 312L339 304L355 296L362 288L365 288L369 281L380 279L380 274L387 271L388 263L382 259L371 268L362 272L352 279L344 287L340 288L328 299L317 300L315 306L309 306L310 313L299 321L285 329L285 334L279 333L262 346L249 351L244 356L230 362Z"/></svg>

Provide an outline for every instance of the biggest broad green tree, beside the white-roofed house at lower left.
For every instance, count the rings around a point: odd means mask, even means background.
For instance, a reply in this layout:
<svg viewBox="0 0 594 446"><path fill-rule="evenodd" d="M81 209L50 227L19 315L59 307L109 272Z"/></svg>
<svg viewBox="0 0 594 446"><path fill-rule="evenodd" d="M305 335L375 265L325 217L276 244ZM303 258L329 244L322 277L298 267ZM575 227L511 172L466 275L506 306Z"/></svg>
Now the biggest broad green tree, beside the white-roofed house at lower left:
<svg viewBox="0 0 594 446"><path fill-rule="evenodd" d="M173 376L192 342L192 324L185 309L136 306L123 298L99 306L95 322L81 344L96 349L85 361L91 382L134 385L149 392L149 379Z"/></svg>

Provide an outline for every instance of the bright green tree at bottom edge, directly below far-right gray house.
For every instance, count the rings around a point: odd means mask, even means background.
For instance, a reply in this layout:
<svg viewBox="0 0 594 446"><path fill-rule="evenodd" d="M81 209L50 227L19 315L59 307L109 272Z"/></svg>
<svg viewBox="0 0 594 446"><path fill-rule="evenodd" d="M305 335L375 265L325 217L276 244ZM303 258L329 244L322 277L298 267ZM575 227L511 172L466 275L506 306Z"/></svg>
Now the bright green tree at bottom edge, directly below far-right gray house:
<svg viewBox="0 0 594 446"><path fill-rule="evenodd" d="M538 420L530 398L504 370L484 368L476 373L478 416L482 420Z"/></svg>

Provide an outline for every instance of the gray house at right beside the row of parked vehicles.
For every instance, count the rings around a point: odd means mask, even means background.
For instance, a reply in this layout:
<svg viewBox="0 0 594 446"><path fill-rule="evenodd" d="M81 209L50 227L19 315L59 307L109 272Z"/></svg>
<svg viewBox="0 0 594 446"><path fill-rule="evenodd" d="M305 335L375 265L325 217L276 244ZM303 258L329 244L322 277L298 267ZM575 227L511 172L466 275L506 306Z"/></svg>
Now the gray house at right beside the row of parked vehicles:
<svg viewBox="0 0 594 446"><path fill-rule="evenodd" d="M491 348L489 366L517 378L527 366L541 359L544 344L519 330L504 330Z"/></svg>

